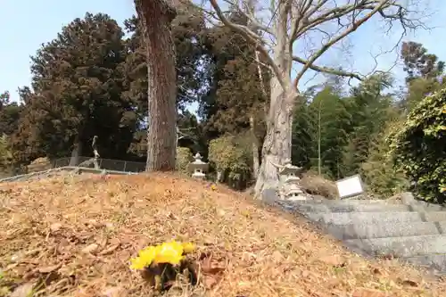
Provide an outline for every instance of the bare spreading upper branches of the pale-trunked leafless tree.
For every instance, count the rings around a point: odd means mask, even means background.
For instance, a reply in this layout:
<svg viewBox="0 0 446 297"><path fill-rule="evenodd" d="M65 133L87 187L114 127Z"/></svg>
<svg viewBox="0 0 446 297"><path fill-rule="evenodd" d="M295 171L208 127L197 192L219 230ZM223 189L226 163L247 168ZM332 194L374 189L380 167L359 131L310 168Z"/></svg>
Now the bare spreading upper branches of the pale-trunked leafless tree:
<svg viewBox="0 0 446 297"><path fill-rule="evenodd" d="M280 52L282 56L284 54L288 56L289 61L303 65L293 80L293 87L296 88L307 70L361 80L364 76L358 73L335 70L313 63L329 48L355 32L376 14L383 17L384 21L388 21L389 27L392 27L393 21L399 21L403 35L406 29L423 27L420 21L409 19L409 9L400 4L399 0L347 0L343 4L337 4L337 1L330 0L270 0L271 21L268 24L262 23L259 15L256 15L256 13L260 13L261 9L256 11L253 0L220 1L228 4L232 12L240 13L246 17L250 26L239 25L228 20L226 13L222 12L218 0L209 0L215 12L214 17L256 46L259 53L265 56L266 62L284 88L289 83L288 78L283 78L284 73L289 72L286 69L288 65L287 62L284 62L286 59L281 61L280 54L276 52ZM323 26L332 22L337 23L337 30L328 33L323 29ZM301 58L293 54L294 43L301 40L302 37L311 38L310 33L312 32L324 34L325 37L321 40L322 44L315 46L314 53L311 53L309 58ZM274 46L267 42L268 38L264 37L263 33L267 33L268 37L273 37ZM310 52L312 51L310 50Z"/></svg>

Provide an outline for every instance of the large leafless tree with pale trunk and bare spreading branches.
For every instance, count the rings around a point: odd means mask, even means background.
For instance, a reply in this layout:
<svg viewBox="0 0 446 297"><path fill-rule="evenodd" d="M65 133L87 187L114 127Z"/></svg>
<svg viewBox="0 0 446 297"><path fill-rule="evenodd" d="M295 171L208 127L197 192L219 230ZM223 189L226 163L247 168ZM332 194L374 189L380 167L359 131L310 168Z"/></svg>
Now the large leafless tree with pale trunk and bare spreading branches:
<svg viewBox="0 0 446 297"><path fill-rule="evenodd" d="M330 75L361 79L359 73L317 64L326 52L343 42L372 18L381 18L392 29L422 26L414 18L410 0L207 0L203 12L214 24L224 24L244 36L263 55L273 76L270 81L270 105L267 136L262 147L261 166L256 183L259 197L263 189L276 187L277 170L273 164L291 159L293 107L300 97L299 83L308 70ZM210 4L210 5L209 5ZM241 13L247 26L236 24L228 13ZM419 17L419 15L417 14ZM396 26L395 26L396 27ZM327 29L329 28L329 29ZM298 43L318 32L323 38L316 49L297 55ZM295 76L293 66L301 65Z"/></svg>

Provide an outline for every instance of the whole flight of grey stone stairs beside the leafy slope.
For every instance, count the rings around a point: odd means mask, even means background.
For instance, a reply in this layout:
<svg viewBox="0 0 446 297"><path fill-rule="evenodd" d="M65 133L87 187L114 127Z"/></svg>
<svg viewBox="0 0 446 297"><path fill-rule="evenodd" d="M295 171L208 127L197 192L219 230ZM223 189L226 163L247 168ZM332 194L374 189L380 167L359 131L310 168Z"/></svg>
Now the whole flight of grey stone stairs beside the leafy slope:
<svg viewBox="0 0 446 297"><path fill-rule="evenodd" d="M418 202L370 200L280 201L364 256L393 256L446 274L446 207Z"/></svg>

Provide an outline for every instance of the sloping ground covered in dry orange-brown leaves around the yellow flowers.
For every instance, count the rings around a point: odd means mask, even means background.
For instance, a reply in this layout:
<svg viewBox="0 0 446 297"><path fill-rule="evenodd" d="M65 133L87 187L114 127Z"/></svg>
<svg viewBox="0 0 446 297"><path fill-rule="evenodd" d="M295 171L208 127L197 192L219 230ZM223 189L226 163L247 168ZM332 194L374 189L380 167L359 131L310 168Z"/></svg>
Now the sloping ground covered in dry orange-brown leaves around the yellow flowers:
<svg viewBox="0 0 446 297"><path fill-rule="evenodd" d="M196 243L200 283L170 296L444 296L446 282L363 260L302 219L175 176L54 177L0 185L0 296L150 296L128 261Z"/></svg>

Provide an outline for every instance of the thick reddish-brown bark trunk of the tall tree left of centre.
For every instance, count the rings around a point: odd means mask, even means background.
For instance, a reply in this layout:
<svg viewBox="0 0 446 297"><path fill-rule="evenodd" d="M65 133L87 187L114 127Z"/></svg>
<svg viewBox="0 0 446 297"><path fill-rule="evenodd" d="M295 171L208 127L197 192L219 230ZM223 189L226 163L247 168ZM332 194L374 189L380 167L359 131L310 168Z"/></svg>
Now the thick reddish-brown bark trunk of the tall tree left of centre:
<svg viewBox="0 0 446 297"><path fill-rule="evenodd" d="M170 23L171 0L135 0L147 50L147 171L175 170L177 147L177 73Z"/></svg>

